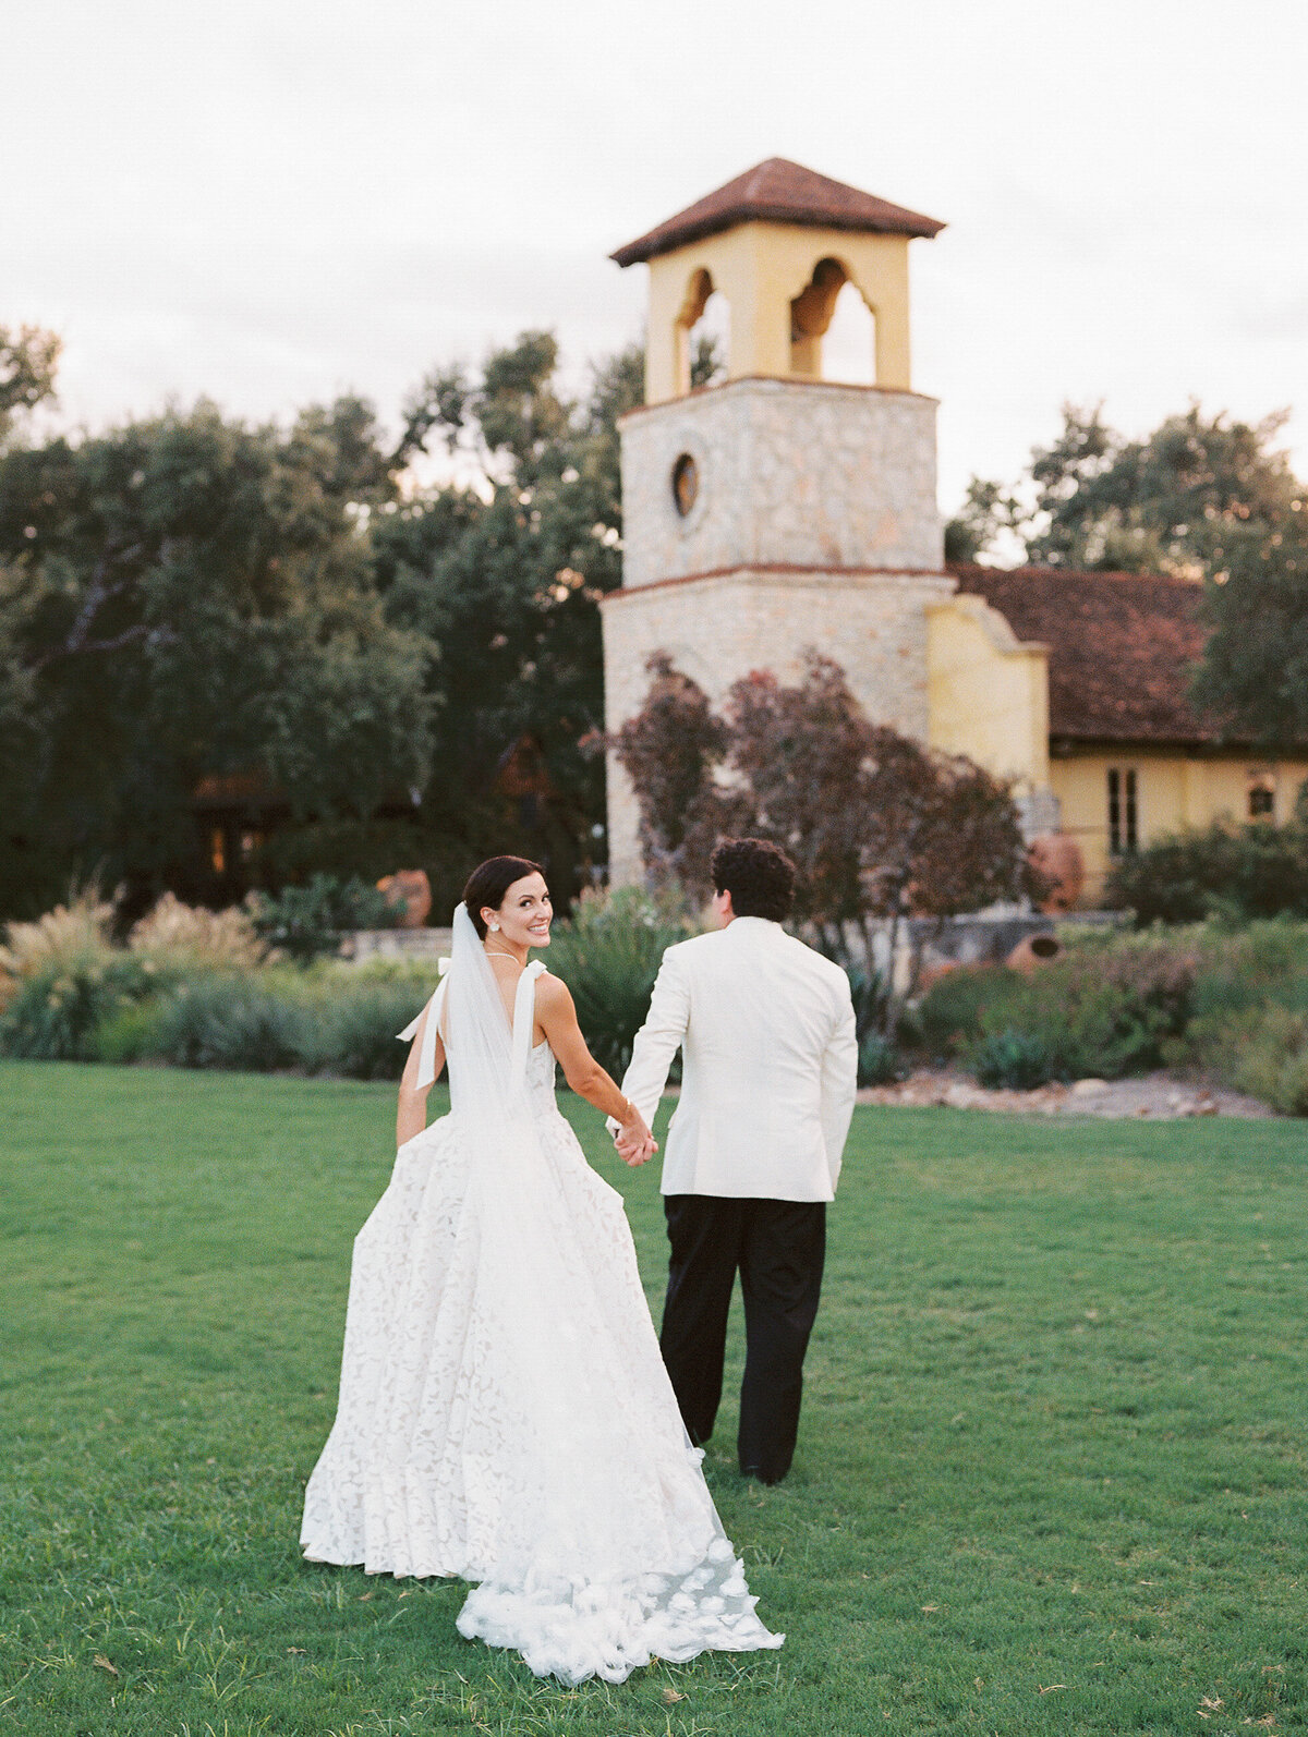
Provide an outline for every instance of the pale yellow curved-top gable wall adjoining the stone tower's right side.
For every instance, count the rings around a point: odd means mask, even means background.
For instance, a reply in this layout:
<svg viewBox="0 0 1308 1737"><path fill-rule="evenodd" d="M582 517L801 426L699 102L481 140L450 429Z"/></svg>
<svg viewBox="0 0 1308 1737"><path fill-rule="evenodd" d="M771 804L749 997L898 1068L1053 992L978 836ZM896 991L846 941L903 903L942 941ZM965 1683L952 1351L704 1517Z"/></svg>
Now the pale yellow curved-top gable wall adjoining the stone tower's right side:
<svg viewBox="0 0 1308 1737"><path fill-rule="evenodd" d="M968 754L1018 796L1049 783L1049 650L1020 641L983 598L928 606L928 740Z"/></svg>

